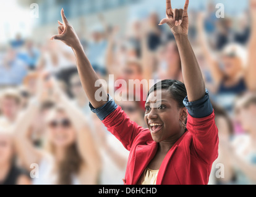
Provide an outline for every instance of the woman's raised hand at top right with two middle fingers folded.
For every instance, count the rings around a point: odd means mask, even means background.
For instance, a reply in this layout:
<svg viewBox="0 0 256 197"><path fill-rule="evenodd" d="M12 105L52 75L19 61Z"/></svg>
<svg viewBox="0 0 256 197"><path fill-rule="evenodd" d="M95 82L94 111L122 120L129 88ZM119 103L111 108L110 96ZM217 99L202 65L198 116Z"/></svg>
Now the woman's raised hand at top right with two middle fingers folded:
<svg viewBox="0 0 256 197"><path fill-rule="evenodd" d="M189 33L189 16L187 9L189 8L189 0L186 0L184 9L173 9L171 0L166 0L166 18L161 20L159 25L167 23L173 34Z"/></svg>

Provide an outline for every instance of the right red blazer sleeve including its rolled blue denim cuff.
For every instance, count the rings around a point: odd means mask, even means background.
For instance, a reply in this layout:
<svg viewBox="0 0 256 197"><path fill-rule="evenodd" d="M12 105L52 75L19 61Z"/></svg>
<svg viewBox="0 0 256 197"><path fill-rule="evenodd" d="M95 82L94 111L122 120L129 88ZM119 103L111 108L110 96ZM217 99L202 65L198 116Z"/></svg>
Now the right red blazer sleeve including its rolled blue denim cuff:
<svg viewBox="0 0 256 197"><path fill-rule="evenodd" d="M218 128L208 91L205 97L196 101L184 100L187 107L187 130L192 134L192 153L207 164L218 158Z"/></svg>

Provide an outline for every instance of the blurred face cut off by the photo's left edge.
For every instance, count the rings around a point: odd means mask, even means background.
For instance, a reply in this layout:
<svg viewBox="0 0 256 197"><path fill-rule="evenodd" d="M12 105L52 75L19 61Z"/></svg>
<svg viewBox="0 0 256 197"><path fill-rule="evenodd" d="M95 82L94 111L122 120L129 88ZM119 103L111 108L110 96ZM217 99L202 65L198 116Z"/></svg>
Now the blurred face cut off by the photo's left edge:
<svg viewBox="0 0 256 197"><path fill-rule="evenodd" d="M0 166L10 162L14 154L12 138L6 134L0 134Z"/></svg>

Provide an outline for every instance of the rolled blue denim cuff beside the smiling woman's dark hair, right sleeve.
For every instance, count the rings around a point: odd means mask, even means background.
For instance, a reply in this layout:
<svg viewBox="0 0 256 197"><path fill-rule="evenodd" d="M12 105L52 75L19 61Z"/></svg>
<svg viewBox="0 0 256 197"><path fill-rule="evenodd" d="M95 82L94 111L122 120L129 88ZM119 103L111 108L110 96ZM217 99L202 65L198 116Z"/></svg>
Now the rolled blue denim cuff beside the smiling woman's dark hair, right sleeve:
<svg viewBox="0 0 256 197"><path fill-rule="evenodd" d="M189 111L189 115L193 118L205 118L213 113L208 90L206 90L205 96L200 100L189 102L189 99L186 97L183 103L187 111Z"/></svg>

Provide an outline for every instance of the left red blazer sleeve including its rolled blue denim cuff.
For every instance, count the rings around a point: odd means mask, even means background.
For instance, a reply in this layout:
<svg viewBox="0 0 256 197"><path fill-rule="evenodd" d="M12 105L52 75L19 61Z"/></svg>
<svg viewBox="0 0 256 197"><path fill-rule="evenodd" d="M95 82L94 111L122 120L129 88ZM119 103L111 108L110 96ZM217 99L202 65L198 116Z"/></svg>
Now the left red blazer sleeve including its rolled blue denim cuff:
<svg viewBox="0 0 256 197"><path fill-rule="evenodd" d="M129 151L132 148L132 144L137 135L145 130L134 121L131 121L122 108L117 106L110 96L109 102L103 107L95 109L90 104L90 108L96 113L98 118L101 119L108 131L111 132L111 134L124 145L124 148Z"/></svg>

